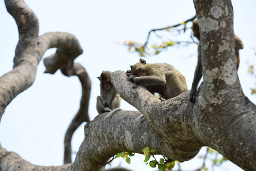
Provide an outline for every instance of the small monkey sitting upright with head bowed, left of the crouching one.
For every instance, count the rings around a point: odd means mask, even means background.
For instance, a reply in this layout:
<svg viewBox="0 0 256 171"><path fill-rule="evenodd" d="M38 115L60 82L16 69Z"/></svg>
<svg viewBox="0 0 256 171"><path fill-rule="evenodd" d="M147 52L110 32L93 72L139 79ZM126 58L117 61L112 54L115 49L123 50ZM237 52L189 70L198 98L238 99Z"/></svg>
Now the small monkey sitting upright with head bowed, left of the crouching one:
<svg viewBox="0 0 256 171"><path fill-rule="evenodd" d="M120 107L121 97L111 83L111 72L102 71L97 79L100 80L100 96L97 96L96 109L99 114L111 112Z"/></svg>

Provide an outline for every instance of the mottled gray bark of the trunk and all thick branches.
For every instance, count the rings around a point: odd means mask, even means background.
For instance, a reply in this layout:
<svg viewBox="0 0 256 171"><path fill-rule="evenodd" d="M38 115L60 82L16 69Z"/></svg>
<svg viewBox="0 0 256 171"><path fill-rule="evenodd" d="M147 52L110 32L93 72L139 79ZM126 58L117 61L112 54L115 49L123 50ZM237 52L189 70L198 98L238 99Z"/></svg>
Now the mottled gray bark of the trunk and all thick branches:
<svg viewBox="0 0 256 171"><path fill-rule="evenodd" d="M36 66L48 48L58 50L45 60L46 72L61 69L68 76L73 72L73 60L82 53L70 34L38 37L38 21L29 7L21 0L5 2L17 22L19 43L14 69L0 78L0 116L34 82ZM193 158L202 146L210 146L242 169L256 170L256 107L243 94L235 67L231 2L194 0L194 5L204 78L196 103L189 102L189 91L161 101L143 86L129 82L124 71L116 71L112 82L117 92L140 112L116 109L87 123L74 164L35 166L0 146L0 170L104 170L105 162L116 153L142 153L145 146L181 162Z"/></svg>

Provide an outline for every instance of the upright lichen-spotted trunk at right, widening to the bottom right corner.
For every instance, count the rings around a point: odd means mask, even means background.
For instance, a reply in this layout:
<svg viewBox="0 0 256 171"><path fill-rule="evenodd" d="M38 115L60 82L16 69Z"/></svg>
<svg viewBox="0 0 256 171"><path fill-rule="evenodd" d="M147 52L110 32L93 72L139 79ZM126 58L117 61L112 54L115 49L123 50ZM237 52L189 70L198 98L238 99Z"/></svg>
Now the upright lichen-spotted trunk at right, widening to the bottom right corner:
<svg viewBox="0 0 256 171"><path fill-rule="evenodd" d="M194 5L204 76L196 106L206 116L200 124L208 129L204 139L241 168L256 170L256 107L243 95L237 75L231 1L198 0Z"/></svg>

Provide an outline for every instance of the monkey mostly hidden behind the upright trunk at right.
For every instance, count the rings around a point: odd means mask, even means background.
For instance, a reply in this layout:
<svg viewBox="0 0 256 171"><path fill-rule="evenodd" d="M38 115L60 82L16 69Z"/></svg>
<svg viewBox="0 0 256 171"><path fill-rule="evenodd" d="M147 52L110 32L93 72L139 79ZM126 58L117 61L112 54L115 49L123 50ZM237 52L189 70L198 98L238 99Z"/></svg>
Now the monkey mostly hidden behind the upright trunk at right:
<svg viewBox="0 0 256 171"><path fill-rule="evenodd" d="M200 30L197 20L193 22L192 25L193 35L198 39L198 47L197 47L197 66L194 71L194 79L192 82L192 88L190 90L189 101L194 103L196 100L197 86L202 78L202 54L201 54L201 39L200 39ZM237 63L237 70L239 68L240 58L239 58L239 50L243 49L242 40L235 35L235 60Z"/></svg>

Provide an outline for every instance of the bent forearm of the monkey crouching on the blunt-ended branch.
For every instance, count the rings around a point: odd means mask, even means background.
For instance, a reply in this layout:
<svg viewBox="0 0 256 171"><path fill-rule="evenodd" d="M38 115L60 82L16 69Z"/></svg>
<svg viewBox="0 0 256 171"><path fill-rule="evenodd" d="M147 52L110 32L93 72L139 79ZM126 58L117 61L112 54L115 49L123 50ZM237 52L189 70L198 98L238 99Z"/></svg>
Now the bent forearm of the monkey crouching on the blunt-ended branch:
<svg viewBox="0 0 256 171"><path fill-rule="evenodd" d="M149 75L149 76L138 76L133 80L137 84L143 86L164 86L166 84L165 76Z"/></svg>

